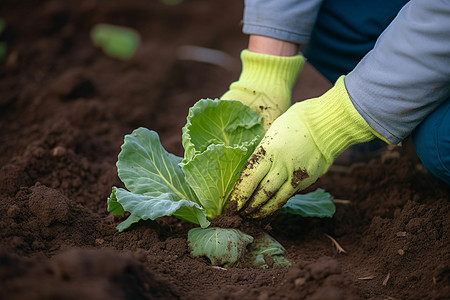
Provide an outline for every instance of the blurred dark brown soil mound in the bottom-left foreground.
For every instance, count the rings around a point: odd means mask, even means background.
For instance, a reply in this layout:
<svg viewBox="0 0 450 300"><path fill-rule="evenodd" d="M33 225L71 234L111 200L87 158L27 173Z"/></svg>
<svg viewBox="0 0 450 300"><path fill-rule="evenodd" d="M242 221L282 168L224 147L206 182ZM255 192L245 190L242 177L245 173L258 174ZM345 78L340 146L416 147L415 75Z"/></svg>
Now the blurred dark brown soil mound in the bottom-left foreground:
<svg viewBox="0 0 450 300"><path fill-rule="evenodd" d="M0 260L8 299L179 299L131 254L72 249L44 261Z"/></svg>

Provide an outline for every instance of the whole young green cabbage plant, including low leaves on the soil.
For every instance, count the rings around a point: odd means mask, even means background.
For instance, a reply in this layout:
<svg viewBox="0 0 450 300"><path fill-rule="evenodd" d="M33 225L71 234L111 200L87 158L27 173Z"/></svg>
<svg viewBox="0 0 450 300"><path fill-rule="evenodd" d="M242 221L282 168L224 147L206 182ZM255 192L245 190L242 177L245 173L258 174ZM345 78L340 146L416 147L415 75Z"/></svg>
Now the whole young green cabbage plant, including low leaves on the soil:
<svg viewBox="0 0 450 300"><path fill-rule="evenodd" d="M184 157L168 153L155 131L138 128L126 135L117 170L126 189L113 187L108 211L128 218L119 231L139 220L175 216L199 225L188 233L193 256L206 256L213 265L232 266L244 256L255 266L264 255L275 266L289 265L284 248L266 235L254 238L237 229L209 228L221 215L240 172L264 135L262 118L238 101L201 99L190 108L182 130ZM312 200L296 195L281 213L332 216L331 196L322 190Z"/></svg>

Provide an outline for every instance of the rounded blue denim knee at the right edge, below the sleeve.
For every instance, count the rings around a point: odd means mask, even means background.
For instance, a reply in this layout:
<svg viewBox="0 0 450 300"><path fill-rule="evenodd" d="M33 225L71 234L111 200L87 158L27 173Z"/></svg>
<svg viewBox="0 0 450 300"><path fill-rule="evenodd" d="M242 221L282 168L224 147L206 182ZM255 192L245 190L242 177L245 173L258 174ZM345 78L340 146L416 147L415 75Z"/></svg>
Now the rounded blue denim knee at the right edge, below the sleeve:
<svg viewBox="0 0 450 300"><path fill-rule="evenodd" d="M417 126L412 138L425 169L450 185L450 100Z"/></svg>

